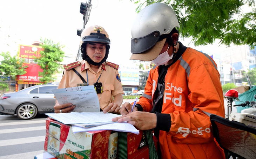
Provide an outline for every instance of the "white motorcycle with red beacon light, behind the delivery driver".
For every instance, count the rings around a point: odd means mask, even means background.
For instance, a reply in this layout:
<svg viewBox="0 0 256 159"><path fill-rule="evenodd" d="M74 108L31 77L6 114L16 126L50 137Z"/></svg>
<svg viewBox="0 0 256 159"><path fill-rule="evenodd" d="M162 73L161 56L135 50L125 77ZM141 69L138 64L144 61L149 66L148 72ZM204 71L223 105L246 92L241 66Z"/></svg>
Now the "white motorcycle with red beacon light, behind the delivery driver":
<svg viewBox="0 0 256 159"><path fill-rule="evenodd" d="M230 121L237 121L244 123L246 126L250 126L253 128L256 128L256 102L255 101L241 101L238 99L238 91L235 89L228 90L224 97L227 99L228 102L228 111L226 118ZM256 99L256 94L254 96ZM243 102L238 105L233 105L233 107L236 106L242 106L242 107L249 107L241 110L241 113L232 112L232 103L233 101L240 101Z"/></svg>

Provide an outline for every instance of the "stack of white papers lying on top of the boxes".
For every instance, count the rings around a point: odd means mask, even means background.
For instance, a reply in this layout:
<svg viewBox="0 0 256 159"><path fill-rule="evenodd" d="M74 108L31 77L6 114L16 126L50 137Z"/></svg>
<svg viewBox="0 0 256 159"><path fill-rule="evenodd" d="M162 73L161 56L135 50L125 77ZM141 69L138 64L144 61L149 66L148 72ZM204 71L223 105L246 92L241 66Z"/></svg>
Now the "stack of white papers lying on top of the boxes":
<svg viewBox="0 0 256 159"><path fill-rule="evenodd" d="M71 124L74 133L97 130L116 130L139 134L132 124L127 122L113 122L112 118L121 116L103 112L71 112L71 113L47 113L46 115L64 124Z"/></svg>

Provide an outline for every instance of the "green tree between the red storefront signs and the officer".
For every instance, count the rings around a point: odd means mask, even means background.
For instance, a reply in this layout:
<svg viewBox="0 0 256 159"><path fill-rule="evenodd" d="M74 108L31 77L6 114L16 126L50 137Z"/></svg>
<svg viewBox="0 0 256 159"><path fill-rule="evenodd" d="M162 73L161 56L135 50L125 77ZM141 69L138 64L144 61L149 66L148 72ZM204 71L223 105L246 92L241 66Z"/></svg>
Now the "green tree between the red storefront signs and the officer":
<svg viewBox="0 0 256 159"><path fill-rule="evenodd" d="M43 41L41 39L41 41ZM40 76L40 81L45 83L53 82L56 79L56 74L60 73L60 62L63 61L63 57L65 57L64 52L61 48L64 45L60 45L59 43L54 43L54 41L50 39L45 39L43 44L40 44L43 50L40 51L41 56L35 57L35 62L38 63L42 72L39 72L38 76Z"/></svg>

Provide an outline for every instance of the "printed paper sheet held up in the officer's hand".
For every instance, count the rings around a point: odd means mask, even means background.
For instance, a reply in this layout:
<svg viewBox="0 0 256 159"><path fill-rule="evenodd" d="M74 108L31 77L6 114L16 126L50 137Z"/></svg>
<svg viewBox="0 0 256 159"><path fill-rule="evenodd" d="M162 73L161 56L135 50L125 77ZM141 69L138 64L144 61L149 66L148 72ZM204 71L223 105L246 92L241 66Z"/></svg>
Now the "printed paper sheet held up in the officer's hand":
<svg viewBox="0 0 256 159"><path fill-rule="evenodd" d="M93 85L52 90L60 104L72 103L73 112L100 112L100 103Z"/></svg>

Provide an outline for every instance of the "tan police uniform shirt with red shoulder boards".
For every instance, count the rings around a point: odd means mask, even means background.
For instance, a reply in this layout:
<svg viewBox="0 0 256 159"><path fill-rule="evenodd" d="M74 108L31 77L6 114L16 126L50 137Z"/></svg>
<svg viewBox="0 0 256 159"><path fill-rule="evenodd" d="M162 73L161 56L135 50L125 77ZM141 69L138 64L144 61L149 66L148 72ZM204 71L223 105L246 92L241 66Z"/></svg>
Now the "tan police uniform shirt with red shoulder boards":
<svg viewBox="0 0 256 159"><path fill-rule="evenodd" d="M79 62L81 62L80 65L79 65ZM95 74L94 71L90 68L90 65L87 61L81 60L79 62L74 63L78 66L75 66L75 67L73 66L73 67L76 71L78 71L79 74L83 76L83 78L89 85L93 85L97 81L97 79L100 77L97 82L102 83L103 92L98 93L97 96L99 98L100 108L102 110L105 107L107 107L110 103L113 102L113 97L116 94L124 93L120 76L118 73L118 65L110 62L104 62L100 65L100 68ZM67 69L68 66L72 67L72 65L65 65L64 67L66 67ZM83 83L81 78L72 69L70 68L68 68L67 70L66 69L64 70L64 75L60 81L58 89L75 87L75 86L78 86L78 84ZM88 74L88 81L87 81L87 74Z"/></svg>

